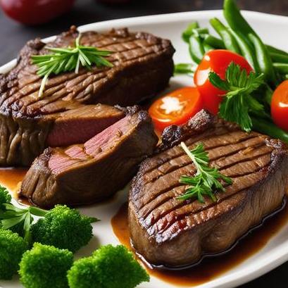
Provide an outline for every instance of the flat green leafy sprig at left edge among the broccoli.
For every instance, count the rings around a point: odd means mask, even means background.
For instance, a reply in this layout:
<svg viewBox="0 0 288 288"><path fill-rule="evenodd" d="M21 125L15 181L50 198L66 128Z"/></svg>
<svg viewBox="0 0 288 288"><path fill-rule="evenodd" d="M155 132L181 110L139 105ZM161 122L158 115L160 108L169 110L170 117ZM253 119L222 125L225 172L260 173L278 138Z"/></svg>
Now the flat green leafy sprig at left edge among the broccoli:
<svg viewBox="0 0 288 288"><path fill-rule="evenodd" d="M10 199L8 197L8 199ZM17 232L27 242L31 242L30 226L33 222L32 215L44 216L45 210L37 207L18 208L11 203L2 204L0 213L1 228Z"/></svg>

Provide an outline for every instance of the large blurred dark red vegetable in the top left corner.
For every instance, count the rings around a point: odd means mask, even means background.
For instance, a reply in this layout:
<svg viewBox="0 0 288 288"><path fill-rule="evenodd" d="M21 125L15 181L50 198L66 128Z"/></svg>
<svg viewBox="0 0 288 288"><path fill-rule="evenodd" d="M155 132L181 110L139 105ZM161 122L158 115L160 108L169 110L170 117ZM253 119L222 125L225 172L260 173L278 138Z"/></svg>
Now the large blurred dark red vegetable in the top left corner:
<svg viewBox="0 0 288 288"><path fill-rule="evenodd" d="M0 0L4 12L12 19L27 25L35 25L67 12L75 0Z"/></svg>

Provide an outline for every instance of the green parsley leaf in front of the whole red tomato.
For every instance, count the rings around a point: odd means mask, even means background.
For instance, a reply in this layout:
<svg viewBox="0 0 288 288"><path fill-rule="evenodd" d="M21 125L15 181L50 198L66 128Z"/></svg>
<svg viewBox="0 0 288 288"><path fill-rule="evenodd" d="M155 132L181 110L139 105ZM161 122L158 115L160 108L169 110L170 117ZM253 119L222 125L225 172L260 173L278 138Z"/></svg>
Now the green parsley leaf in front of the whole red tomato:
<svg viewBox="0 0 288 288"><path fill-rule="evenodd" d="M220 104L220 117L237 123L242 130L250 132L252 129L251 111L265 115L263 104L251 95L264 84L263 74L257 75L253 72L247 74L246 70L232 62L227 67L225 80L214 72L209 73L209 80L213 86L226 91Z"/></svg>

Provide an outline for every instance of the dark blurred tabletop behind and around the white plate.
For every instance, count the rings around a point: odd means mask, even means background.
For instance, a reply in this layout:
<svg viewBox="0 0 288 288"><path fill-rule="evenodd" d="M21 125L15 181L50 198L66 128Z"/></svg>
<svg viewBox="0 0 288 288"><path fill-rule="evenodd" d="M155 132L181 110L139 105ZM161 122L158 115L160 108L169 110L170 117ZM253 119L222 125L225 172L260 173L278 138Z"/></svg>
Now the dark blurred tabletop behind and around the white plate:
<svg viewBox="0 0 288 288"><path fill-rule="evenodd" d="M288 0L239 0L238 3L241 8L246 10L288 16ZM141 15L220 9L222 4L223 0L134 0L130 4L112 6L100 4L95 0L77 0L70 13L52 23L37 27L27 27L15 23L0 11L0 65L15 58L19 49L28 39L56 35L58 32L67 30L70 25L83 25L101 20ZM287 288L287 273L288 263L285 263L241 288Z"/></svg>

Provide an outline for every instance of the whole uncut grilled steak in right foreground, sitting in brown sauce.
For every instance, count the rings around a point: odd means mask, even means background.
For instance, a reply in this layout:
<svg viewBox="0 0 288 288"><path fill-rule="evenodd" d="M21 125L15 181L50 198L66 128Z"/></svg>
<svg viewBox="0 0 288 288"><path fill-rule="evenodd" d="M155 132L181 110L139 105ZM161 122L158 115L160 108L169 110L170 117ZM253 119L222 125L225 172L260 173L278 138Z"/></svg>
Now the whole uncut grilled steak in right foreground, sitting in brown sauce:
<svg viewBox="0 0 288 288"><path fill-rule="evenodd" d="M210 165L232 178L225 192L180 201L186 186L181 175L196 172L178 145L202 142ZM130 236L134 248L154 265L181 267L204 254L229 249L249 228L279 208L288 184L288 154L279 140L201 111L182 127L168 127L158 153L147 158L130 190Z"/></svg>

